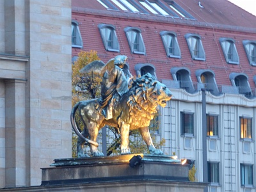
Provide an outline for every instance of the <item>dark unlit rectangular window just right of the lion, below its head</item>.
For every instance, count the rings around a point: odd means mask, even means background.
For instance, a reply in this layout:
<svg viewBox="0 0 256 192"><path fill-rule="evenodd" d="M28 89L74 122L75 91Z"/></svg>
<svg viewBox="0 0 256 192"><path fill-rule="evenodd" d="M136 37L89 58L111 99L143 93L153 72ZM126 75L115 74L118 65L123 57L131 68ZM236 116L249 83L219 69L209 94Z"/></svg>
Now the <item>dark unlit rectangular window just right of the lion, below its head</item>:
<svg viewBox="0 0 256 192"><path fill-rule="evenodd" d="M181 134L194 135L194 113L180 112Z"/></svg>

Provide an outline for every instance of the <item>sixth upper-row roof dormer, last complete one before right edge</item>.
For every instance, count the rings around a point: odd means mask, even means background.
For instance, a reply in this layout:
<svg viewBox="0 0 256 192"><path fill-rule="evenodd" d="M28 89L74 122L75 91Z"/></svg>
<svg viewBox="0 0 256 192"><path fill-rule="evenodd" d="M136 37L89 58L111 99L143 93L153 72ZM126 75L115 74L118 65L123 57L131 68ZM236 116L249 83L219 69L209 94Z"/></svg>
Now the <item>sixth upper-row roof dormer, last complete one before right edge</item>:
<svg viewBox="0 0 256 192"><path fill-rule="evenodd" d="M231 38L220 38L220 44L226 62L230 64L239 64L239 56L236 50L235 41Z"/></svg>

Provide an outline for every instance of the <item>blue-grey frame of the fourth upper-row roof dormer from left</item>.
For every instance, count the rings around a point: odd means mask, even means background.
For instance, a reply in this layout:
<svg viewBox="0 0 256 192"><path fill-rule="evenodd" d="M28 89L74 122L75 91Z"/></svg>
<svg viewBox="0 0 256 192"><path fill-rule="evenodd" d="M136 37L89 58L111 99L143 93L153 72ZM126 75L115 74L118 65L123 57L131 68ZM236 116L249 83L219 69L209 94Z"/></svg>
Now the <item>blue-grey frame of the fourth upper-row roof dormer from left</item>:
<svg viewBox="0 0 256 192"><path fill-rule="evenodd" d="M161 31L159 34L161 35L166 55L170 58L181 58L180 46L179 46L179 43L177 40L176 33L173 31ZM169 36L172 36L173 54L170 53L170 47L168 46L168 40L166 40L166 38L168 38Z"/></svg>

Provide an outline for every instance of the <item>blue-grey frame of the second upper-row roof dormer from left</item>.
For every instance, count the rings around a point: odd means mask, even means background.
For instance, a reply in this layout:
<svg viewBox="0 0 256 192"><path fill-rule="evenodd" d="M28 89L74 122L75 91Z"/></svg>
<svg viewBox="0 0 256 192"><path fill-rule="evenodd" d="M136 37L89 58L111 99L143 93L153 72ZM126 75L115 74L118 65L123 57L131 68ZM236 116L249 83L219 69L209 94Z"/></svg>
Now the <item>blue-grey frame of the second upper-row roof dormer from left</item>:
<svg viewBox="0 0 256 192"><path fill-rule="evenodd" d="M116 28L112 24L99 24L98 25L100 36L106 51L120 52L120 45L116 35ZM106 38L106 30L111 31L112 46L109 46L109 41Z"/></svg>

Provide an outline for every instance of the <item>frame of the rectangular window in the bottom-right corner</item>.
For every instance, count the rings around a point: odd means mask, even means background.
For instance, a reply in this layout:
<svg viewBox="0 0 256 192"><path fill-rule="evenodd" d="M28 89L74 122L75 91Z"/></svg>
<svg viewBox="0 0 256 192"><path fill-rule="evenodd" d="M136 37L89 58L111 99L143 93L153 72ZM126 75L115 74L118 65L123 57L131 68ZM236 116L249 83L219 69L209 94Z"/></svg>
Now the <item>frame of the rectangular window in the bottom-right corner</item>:
<svg viewBox="0 0 256 192"><path fill-rule="evenodd" d="M245 168L250 168L249 172L251 172L250 175L250 181L248 180L248 174L246 175ZM248 172L248 170L247 170ZM241 177L241 186L243 187L253 187L253 164L240 164L240 177ZM247 179L246 179L247 178ZM250 182L250 183L248 183Z"/></svg>

